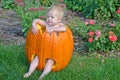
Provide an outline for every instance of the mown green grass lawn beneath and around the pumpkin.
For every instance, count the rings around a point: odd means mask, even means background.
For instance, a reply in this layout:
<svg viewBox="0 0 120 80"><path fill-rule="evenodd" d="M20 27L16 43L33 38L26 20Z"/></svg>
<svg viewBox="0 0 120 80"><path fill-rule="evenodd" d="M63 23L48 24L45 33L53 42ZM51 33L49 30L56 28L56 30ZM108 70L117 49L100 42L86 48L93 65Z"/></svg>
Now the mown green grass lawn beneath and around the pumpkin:
<svg viewBox="0 0 120 80"><path fill-rule="evenodd" d="M75 54L70 64L59 72L51 72L44 80L119 80L120 58L87 57ZM36 70L28 79L23 75L28 69L24 46L0 45L0 80L38 80Z"/></svg>

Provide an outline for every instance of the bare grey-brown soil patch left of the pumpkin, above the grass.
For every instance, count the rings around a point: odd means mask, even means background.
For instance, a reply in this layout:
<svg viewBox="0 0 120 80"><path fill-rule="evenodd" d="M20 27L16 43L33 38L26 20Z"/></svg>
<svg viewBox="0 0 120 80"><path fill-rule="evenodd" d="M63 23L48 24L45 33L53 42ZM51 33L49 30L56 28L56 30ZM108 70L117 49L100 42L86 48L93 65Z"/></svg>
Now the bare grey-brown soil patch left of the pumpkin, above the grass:
<svg viewBox="0 0 120 80"><path fill-rule="evenodd" d="M20 18L13 10L0 8L0 43L5 45L25 43Z"/></svg>

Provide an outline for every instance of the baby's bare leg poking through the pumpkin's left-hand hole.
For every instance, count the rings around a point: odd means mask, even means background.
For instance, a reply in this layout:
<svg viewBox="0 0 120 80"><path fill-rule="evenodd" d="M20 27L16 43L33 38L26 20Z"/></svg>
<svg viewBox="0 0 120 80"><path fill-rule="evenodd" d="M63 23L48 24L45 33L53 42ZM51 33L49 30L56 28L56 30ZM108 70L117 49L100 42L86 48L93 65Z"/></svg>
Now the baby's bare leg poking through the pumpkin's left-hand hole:
<svg viewBox="0 0 120 80"><path fill-rule="evenodd" d="M35 56L35 58L30 63L29 71L24 74L24 78L28 78L35 71L35 69L38 66L38 63L39 63L38 56Z"/></svg>

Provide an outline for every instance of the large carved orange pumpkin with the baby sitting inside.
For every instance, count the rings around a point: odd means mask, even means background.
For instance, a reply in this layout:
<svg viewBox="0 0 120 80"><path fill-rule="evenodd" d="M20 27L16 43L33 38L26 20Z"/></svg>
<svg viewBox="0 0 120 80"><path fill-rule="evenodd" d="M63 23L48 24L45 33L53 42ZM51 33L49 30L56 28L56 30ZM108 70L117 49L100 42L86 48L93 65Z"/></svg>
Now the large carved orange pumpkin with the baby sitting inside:
<svg viewBox="0 0 120 80"><path fill-rule="evenodd" d="M65 68L73 52L74 42L71 30L67 26L65 32L52 32L50 34L47 31L41 33L40 30L41 29L39 29L39 33L36 35L33 35L31 32L31 34L28 33L34 38L30 38L29 35L27 36L29 38L26 38L28 61L31 62L33 57L37 55L39 57L38 69L40 70L43 70L47 59L53 59L55 61L53 71L59 71ZM27 41L29 41L29 43ZM33 43L33 41L34 44L31 44L30 42Z"/></svg>

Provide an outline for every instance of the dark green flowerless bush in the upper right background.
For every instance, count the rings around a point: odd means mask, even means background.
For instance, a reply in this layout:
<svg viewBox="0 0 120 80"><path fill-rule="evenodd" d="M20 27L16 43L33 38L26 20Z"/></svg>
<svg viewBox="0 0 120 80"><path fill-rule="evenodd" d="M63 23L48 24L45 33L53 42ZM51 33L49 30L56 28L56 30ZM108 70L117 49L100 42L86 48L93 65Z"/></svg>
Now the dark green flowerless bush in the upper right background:
<svg viewBox="0 0 120 80"><path fill-rule="evenodd" d="M69 9L82 12L86 18L120 20L116 14L120 0L65 0L65 3Z"/></svg>

